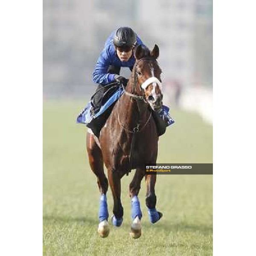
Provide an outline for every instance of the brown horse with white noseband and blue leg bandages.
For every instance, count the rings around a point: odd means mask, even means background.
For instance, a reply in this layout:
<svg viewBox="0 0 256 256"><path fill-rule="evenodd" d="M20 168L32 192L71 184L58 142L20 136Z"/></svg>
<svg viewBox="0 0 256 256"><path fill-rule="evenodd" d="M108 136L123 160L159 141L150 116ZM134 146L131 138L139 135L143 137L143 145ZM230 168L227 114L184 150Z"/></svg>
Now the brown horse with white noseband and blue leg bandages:
<svg viewBox="0 0 256 256"><path fill-rule="evenodd" d="M122 224L123 207L120 199L121 178L136 169L130 183L131 224L130 235L133 238L141 236L140 202L137 197L140 183L145 176L146 181L146 206L151 223L157 222L162 213L156 210L157 198L154 191L156 174L145 175L144 164L156 163L158 150L157 128L152 117L152 111L162 108L163 95L161 92L161 69L157 58L159 48L157 45L150 51L144 46L135 49L136 58L131 77L114 106L105 126L97 138L87 133L87 152L90 167L97 176L101 193L99 207L98 232L102 237L109 234L108 205L106 193L108 183L113 195L113 225ZM108 169L108 179L105 176L103 164Z"/></svg>

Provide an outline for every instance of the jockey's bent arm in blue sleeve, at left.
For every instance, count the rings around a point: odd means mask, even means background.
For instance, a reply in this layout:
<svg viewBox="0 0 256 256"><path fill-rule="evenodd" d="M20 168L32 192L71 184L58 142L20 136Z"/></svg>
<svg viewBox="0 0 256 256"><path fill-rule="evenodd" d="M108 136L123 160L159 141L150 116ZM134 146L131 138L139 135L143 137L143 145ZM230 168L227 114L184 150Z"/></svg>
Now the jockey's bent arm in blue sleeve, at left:
<svg viewBox="0 0 256 256"><path fill-rule="evenodd" d="M108 73L108 67L111 65L111 55L109 48L104 48L99 55L95 69L93 71L93 82L96 84L109 84L115 81L114 74Z"/></svg>

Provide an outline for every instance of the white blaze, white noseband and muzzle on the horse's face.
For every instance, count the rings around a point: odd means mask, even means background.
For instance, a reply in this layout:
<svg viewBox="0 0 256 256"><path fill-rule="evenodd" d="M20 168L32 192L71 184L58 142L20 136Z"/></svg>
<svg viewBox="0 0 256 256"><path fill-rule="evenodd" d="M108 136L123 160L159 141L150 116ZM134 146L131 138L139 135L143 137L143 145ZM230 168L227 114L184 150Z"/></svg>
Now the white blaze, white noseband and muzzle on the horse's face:
<svg viewBox="0 0 256 256"><path fill-rule="evenodd" d="M151 64L151 77L143 82L141 87L145 91L149 105L154 111L162 108L162 83L154 76L154 67Z"/></svg>

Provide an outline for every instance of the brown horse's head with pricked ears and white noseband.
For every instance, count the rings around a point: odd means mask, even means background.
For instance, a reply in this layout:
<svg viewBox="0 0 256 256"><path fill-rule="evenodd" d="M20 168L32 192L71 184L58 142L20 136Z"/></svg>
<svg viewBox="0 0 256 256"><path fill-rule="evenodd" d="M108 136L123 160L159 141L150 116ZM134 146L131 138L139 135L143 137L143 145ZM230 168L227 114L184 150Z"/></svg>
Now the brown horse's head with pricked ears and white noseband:
<svg viewBox="0 0 256 256"><path fill-rule="evenodd" d="M146 101L154 111L162 108L163 94L160 74L162 73L157 63L159 48L155 44L150 51L145 46L139 45L134 52L136 62L134 64L134 77L137 86L143 90Z"/></svg>

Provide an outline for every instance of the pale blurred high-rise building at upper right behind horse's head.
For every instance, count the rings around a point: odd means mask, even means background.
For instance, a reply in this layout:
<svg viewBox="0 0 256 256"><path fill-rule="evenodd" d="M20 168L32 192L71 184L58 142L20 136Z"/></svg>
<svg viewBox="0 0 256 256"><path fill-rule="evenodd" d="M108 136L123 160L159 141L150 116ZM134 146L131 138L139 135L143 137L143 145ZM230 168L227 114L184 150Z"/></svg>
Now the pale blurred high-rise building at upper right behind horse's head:
<svg viewBox="0 0 256 256"><path fill-rule="evenodd" d="M166 79L212 85L212 1L160 0L147 5L141 0L143 6L148 10L138 16L139 22L149 24L145 29L160 45Z"/></svg>

